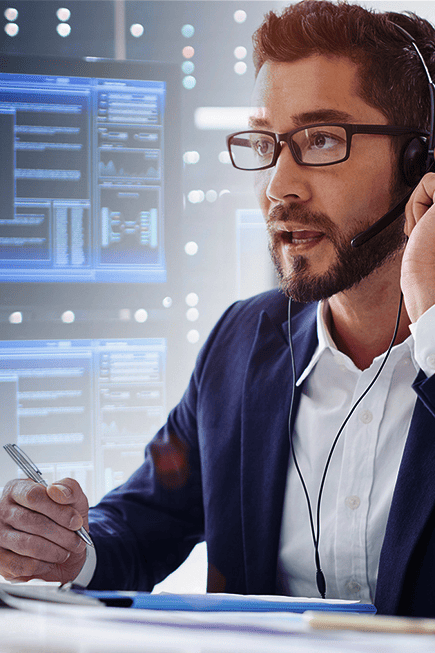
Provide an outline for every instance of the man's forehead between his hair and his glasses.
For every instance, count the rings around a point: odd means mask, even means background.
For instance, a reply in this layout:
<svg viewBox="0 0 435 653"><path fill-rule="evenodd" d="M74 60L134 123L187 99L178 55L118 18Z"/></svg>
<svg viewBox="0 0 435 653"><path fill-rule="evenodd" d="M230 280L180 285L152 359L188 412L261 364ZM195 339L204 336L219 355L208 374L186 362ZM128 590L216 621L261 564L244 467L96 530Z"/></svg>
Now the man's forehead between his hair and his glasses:
<svg viewBox="0 0 435 653"><path fill-rule="evenodd" d="M267 61L254 87L253 122L278 133L301 122L385 123L383 114L359 97L358 74L356 64L344 57ZM317 118L304 123L310 115Z"/></svg>

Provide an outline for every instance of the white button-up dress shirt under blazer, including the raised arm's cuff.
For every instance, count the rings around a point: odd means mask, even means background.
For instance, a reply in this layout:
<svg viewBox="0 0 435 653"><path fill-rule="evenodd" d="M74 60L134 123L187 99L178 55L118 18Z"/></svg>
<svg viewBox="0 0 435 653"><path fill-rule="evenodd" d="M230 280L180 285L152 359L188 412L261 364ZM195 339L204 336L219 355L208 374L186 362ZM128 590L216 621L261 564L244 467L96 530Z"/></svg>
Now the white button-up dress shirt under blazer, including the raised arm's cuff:
<svg viewBox="0 0 435 653"><path fill-rule="evenodd" d="M361 371L338 351L317 313L318 347L297 381L302 395L293 433L316 523L320 481L332 442L384 355ZM435 306L393 347L372 389L343 430L326 474L320 510L321 568L326 597L373 602L388 513L408 434L419 369L435 372ZM282 593L319 597L307 501L290 458L281 527L278 584Z"/></svg>

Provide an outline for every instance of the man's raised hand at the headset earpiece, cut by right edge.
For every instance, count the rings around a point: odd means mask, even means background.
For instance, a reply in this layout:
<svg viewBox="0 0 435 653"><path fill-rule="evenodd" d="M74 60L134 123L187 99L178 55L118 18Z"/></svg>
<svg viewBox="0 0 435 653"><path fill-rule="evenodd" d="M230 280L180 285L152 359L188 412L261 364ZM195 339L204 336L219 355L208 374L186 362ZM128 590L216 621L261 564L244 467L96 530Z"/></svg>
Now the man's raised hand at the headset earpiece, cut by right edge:
<svg viewBox="0 0 435 653"><path fill-rule="evenodd" d="M411 322L435 304L435 174L423 177L405 209L409 240L402 261L401 286Z"/></svg>

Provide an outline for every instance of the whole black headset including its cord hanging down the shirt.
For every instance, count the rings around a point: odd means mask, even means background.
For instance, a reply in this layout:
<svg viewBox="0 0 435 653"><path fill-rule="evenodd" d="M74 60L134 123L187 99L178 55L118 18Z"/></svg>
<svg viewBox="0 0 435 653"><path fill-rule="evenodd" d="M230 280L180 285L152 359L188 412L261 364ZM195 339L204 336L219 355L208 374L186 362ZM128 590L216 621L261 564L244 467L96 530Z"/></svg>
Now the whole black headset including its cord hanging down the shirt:
<svg viewBox="0 0 435 653"><path fill-rule="evenodd" d="M367 243L369 240L371 240L374 236L379 234L381 231L386 229L390 224L392 224L397 218L399 218L404 210L405 206L411 197L412 193L414 192L415 188L419 184L421 178L427 173L430 172L431 170L435 169L435 164L434 164L434 141L435 141L435 85L434 82L430 76L429 69L426 66L426 62L423 58L423 55L421 54L414 38L409 34L405 29L400 27L399 25L396 25L396 23L391 23L396 27L398 30L400 30L404 36L408 39L408 41L412 44L415 52L417 53L426 77L428 79L429 83L429 94L430 94L430 128L429 128L429 133L427 136L417 136L412 138L411 141L409 141L407 144L405 144L403 151L401 153L401 162L400 162L400 169L402 172L402 175L404 177L404 180L408 186L411 187L411 190L408 191L406 196L398 203L396 206L394 206L388 213L386 213L382 218L377 220L371 227L366 229L365 231L362 231L361 233L357 234L351 241L352 247L360 247L364 243ZM370 384L367 386L367 388L364 390L364 392L360 395L360 397L357 399L357 401L354 403L354 405L351 407L350 411L348 412L347 416L345 417L340 429L338 430L334 441L332 443L331 449L329 450L328 457L326 459L325 467L323 470L322 478L320 480L320 485L319 485L319 492L317 495L317 503L316 503L316 515L315 515L315 520L314 520L314 515L313 515L313 509L311 506L311 500L308 494L307 486L305 484L302 472L300 470L298 461L296 460L296 454L293 446L293 429L291 426L291 419L292 419L292 414L293 414L293 405L294 405L294 398L295 398L295 390L296 390L296 369L295 369L295 358L294 358L294 352L293 352L293 342L292 342L292 335L291 335L291 298L289 300L288 304L288 333L289 333L289 343L290 343L290 355L291 355L291 361L292 361L292 371L293 371L293 384L292 384L292 393L291 393L291 399L290 399L290 411L289 411L289 418L288 418L288 433L289 433L289 440L290 440L290 450L291 450L291 455L295 464L295 469L298 473L299 479L302 484L302 488L305 494L305 498L307 501L307 506L308 506L308 514L309 514L309 520L310 520L310 528L311 528L311 535L313 539L313 544L314 544L314 562L316 566L316 584L317 584L317 589L319 591L319 594L322 598L325 598L326 596L326 579L325 575L322 571L321 565L320 565L320 554L319 554L319 541L320 541L320 505L321 505L321 500L322 500L322 494L323 494L323 489L325 485L325 480L326 480L326 475L329 469L329 463L331 462L332 454L334 453L335 447L337 445L338 439L340 438L341 434L344 431L344 428L346 424L348 423L349 419L355 412L355 409L357 406L361 403L361 401L364 399L364 397L367 395L369 390L373 387L377 379L379 378L382 370L385 367L385 364L388 360L388 357L390 355L390 352L394 346L394 342L396 340L397 332L399 329L399 323L400 323L400 315L402 311L402 305L403 305L403 294L400 295L400 302L399 302L399 308L397 312L397 318L396 318L396 324L394 327L394 333L393 337L391 339L390 345L388 347L388 350L384 356L384 359L379 367L379 370L375 374L374 378L370 382ZM316 522L316 523L315 523Z"/></svg>

